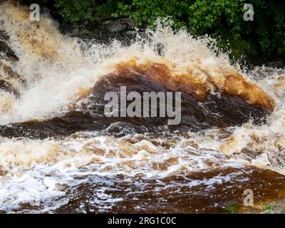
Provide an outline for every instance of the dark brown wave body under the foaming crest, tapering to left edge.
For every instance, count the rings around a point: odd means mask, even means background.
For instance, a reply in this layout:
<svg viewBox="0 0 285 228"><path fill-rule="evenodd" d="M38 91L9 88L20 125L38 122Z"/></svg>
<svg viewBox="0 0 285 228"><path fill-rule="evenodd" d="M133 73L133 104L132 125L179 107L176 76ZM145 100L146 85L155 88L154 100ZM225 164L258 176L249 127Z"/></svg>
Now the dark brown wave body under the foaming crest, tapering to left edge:
<svg viewBox="0 0 285 228"><path fill-rule="evenodd" d="M154 66L150 66L150 70ZM186 81L167 81L167 71L134 71L134 69L110 73L95 83L86 103L81 108L71 110L65 115L51 120L18 123L0 128L0 135L6 137L47 138L71 135L76 131L98 130L100 134L126 135L128 133L160 133L167 125L168 117L106 117L104 100L107 92L120 93L120 86L125 86L127 93L137 92L176 92L182 91L181 122L168 125L170 132L175 130L193 131L210 128L227 128L242 125L252 120L259 125L264 123L269 110L259 105L250 105L237 95L205 92L202 97L195 95L199 85L183 84ZM184 86L183 86L184 85ZM127 102L129 105L131 101ZM175 108L175 107L173 107ZM27 135L28 133L28 135Z"/></svg>

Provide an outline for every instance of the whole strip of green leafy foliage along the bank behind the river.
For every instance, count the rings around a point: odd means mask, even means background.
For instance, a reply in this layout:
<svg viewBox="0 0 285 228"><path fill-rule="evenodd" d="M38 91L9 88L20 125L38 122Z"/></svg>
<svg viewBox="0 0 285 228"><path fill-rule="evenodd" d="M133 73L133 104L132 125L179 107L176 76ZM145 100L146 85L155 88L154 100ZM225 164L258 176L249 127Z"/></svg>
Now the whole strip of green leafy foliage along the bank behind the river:
<svg viewBox="0 0 285 228"><path fill-rule="evenodd" d="M36 0L34 0L36 1ZM28 2L28 1L27 1ZM132 18L137 26L171 17L175 28L195 36L209 34L232 56L285 56L285 4L279 0L38 0L66 22ZM254 6L254 21L244 21L244 4ZM52 5L52 7L51 7Z"/></svg>

